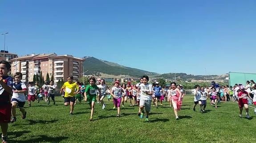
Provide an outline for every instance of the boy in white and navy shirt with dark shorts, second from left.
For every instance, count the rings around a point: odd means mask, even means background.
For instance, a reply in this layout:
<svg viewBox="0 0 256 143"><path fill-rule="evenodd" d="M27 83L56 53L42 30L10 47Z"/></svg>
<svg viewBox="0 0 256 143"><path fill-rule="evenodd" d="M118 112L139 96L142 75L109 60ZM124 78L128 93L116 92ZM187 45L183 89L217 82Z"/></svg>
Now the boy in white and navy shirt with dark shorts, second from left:
<svg viewBox="0 0 256 143"><path fill-rule="evenodd" d="M13 93L12 93L12 120L11 123L16 121L16 107L20 108L22 113L22 119L26 118L27 112L24 109L26 101L25 93L27 93L26 85L20 81L22 79L22 73L18 72L14 74Z"/></svg>

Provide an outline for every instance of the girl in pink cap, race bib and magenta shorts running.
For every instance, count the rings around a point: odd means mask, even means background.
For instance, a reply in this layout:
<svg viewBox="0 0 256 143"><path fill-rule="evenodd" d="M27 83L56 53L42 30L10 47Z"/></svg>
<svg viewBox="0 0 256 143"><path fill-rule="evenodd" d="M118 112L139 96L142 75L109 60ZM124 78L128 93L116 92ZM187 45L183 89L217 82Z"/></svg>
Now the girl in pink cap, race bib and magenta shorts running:
<svg viewBox="0 0 256 143"><path fill-rule="evenodd" d="M111 89L110 94L113 96L114 106L118 108L117 117L120 117L120 104L121 104L122 93L125 93L125 91L120 86L120 82L115 81L114 87Z"/></svg>

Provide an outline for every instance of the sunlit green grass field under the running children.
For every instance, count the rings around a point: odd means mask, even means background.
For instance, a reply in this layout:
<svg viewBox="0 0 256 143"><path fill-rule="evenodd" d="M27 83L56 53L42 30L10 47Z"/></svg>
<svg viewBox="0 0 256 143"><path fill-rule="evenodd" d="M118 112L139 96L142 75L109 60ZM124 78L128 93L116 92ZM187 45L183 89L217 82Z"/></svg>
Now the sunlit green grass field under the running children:
<svg viewBox="0 0 256 143"><path fill-rule="evenodd" d="M121 108L121 117L116 117L112 102L106 99L107 107L102 110L95 104L93 121L89 121L89 105L82 102L74 107L74 115L69 115L69 107L63 105L61 97L56 97L57 105L34 102L25 109L27 118L22 120L17 111L17 121L9 124L8 138L12 143L81 143L81 142L218 142L256 143L256 115L249 108L250 120L238 117L237 103L219 103L215 109L207 100L205 113L193 112L193 97L184 99L180 120L175 120L173 108L167 102L155 108L151 106L150 122L137 116L138 107L130 107L128 102ZM243 111L245 116L245 111Z"/></svg>

